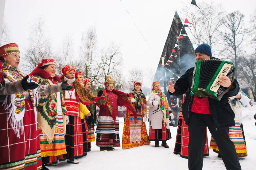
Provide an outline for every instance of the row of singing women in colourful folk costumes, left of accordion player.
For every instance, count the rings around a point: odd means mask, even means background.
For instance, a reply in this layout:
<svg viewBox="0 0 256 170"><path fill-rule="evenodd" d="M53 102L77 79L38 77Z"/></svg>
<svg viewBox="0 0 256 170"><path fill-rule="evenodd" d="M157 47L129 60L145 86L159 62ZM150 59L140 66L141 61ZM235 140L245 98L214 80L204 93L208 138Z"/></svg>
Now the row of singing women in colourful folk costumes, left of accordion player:
<svg viewBox="0 0 256 170"><path fill-rule="evenodd" d="M101 151L121 146L118 106L126 107L122 148L147 145L149 139L162 140L162 145L168 146L167 122L172 114L161 90L152 93L159 97L163 126L153 127L149 115L150 129L156 134L152 133L150 138L145 126L147 103L141 82L134 82L134 89L126 94L115 90L114 81L107 76L106 88L95 96L90 90L90 80L83 79L82 72L76 72L72 65L65 65L59 77L55 74L55 59L43 57L29 77L17 68L20 62L17 44L0 47L0 57L1 70L6 76L2 79L0 72L1 83L6 81L5 87L1 85L0 95L0 104L4 106L0 109L0 135L6 136L0 142L0 169L47 169L45 166L65 160L79 163L76 158L86 156L95 141L96 104L100 108L96 146ZM151 96L156 98L154 94Z"/></svg>

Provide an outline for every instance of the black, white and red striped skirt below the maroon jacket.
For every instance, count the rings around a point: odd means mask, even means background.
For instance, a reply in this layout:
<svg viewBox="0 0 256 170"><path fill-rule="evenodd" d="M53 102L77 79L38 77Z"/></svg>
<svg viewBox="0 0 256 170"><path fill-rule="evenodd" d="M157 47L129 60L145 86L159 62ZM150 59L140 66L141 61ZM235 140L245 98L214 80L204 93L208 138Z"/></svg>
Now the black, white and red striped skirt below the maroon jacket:
<svg viewBox="0 0 256 170"><path fill-rule="evenodd" d="M116 123L111 116L99 116L95 133L96 146L100 147L120 147L119 120Z"/></svg>

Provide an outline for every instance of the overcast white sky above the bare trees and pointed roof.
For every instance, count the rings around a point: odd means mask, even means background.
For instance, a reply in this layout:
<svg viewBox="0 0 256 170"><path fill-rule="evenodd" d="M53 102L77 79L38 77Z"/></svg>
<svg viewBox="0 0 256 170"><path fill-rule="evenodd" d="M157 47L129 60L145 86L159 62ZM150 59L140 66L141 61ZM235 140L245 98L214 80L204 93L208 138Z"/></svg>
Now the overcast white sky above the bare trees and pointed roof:
<svg viewBox="0 0 256 170"><path fill-rule="evenodd" d="M157 58L119 0L6 0L4 16L12 42L17 43L23 53L28 46L29 26L41 14L51 36L52 47L58 48L64 35L69 32L73 35L76 56L79 54L82 31L94 25L100 48L108 46L111 41L122 45L124 73L127 73L132 65L157 68L175 10L184 19L181 15L183 4L190 2L191 0L122 0ZM203 0L196 0L197 4L200 2ZM249 24L249 16L256 7L255 0L214 2L222 3L227 12L239 10L245 15L246 24Z"/></svg>

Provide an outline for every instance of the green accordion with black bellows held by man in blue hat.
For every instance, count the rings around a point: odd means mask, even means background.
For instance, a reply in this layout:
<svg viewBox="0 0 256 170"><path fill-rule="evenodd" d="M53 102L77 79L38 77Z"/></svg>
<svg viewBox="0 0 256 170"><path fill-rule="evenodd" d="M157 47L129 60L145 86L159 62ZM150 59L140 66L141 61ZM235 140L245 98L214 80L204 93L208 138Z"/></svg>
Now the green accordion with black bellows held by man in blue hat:
<svg viewBox="0 0 256 170"><path fill-rule="evenodd" d="M211 59L196 61L191 94L197 97L210 97L220 100L222 96L232 87L219 85L218 78L224 74L231 82L234 82L235 66L232 62Z"/></svg>

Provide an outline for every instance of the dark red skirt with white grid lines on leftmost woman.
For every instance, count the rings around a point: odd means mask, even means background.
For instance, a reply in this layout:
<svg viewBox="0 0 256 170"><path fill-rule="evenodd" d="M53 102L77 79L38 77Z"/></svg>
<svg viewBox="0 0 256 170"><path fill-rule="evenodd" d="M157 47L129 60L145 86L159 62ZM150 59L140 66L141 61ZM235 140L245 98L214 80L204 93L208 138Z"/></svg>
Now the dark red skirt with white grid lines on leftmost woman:
<svg viewBox="0 0 256 170"><path fill-rule="evenodd" d="M25 100L20 138L7 121L9 114L0 103L0 169L42 169L39 131L31 101Z"/></svg>

